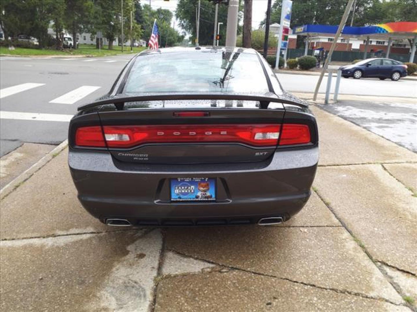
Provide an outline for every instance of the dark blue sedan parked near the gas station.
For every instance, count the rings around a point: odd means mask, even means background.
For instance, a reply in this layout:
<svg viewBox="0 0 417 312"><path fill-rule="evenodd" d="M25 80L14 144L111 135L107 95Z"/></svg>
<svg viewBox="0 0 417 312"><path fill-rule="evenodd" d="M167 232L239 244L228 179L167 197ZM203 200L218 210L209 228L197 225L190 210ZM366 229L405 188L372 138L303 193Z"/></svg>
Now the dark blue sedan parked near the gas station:
<svg viewBox="0 0 417 312"><path fill-rule="evenodd" d="M339 68L344 78L375 77L381 80L391 78L393 81L407 76L407 65L394 59L364 59L356 64Z"/></svg>

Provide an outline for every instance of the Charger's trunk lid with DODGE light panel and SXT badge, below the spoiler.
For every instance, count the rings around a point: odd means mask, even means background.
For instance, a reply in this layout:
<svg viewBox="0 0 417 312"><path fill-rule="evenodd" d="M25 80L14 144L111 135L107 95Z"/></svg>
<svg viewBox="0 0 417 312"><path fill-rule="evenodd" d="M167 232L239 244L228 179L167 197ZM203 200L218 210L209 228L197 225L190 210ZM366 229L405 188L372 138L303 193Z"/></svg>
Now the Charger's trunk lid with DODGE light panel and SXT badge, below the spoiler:
<svg viewBox="0 0 417 312"><path fill-rule="evenodd" d="M99 111L107 147L131 163L263 161L276 150L284 106L248 100L126 102Z"/></svg>

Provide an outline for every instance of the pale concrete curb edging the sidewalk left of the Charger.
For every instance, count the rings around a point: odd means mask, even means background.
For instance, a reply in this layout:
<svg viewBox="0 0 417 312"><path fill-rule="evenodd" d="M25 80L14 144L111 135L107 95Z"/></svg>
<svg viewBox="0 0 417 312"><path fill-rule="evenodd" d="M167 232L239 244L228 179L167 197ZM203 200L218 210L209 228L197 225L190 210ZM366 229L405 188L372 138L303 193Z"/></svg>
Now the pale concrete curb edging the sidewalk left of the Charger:
<svg viewBox="0 0 417 312"><path fill-rule="evenodd" d="M31 176L33 176L34 173L39 171L43 166L45 166L47 163L49 163L57 154L59 154L63 149L65 149L68 146L68 139L63 141L61 144L59 144L55 149L50 151L48 154L40 158L36 163L34 163L29 169L24 171L23 173L20 173L19 176L17 176L13 181L6 184L1 190L0 190L0 200L3 200L6 196L8 196L10 193L12 193L16 188L20 186L23 182L28 180Z"/></svg>

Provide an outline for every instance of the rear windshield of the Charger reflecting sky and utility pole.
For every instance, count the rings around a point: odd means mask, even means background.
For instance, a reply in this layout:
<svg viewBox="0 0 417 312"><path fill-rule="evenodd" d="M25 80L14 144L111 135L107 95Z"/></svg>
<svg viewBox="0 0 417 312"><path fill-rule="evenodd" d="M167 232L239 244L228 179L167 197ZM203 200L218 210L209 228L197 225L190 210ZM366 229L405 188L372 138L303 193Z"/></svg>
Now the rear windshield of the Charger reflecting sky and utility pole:
<svg viewBox="0 0 417 312"><path fill-rule="evenodd" d="M202 50L137 57L123 92L265 94L269 89L256 54Z"/></svg>

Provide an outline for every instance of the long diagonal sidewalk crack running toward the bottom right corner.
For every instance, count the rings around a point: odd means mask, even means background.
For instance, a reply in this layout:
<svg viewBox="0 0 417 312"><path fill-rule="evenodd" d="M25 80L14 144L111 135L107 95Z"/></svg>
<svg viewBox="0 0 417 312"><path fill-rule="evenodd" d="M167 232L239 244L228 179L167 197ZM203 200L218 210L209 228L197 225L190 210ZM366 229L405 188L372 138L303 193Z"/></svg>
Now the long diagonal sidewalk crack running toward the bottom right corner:
<svg viewBox="0 0 417 312"><path fill-rule="evenodd" d="M299 285L304 285L304 286L309 286L309 287L314 287L314 288L321 289L321 290L329 290L329 291L337 292L337 293L343 294L343 295L352 295L352 296L362 297L362 298L365 298L365 299L383 301L383 302L387 302L387 303L390 303L390 304L396 305L396 306L407 306L407 305L404 305L404 304L399 304L399 303L396 303L396 302L392 302L392 301L387 300L387 299L382 298L382 297L369 296L369 295L363 294L361 292L352 292L350 290L340 290L340 289L332 288L332 287L319 286L319 285L315 285L313 283L301 282L301 281L298 281L298 280L292 280L292 279L290 279L288 277L281 277L281 276L270 275L270 274L261 273L261 272L255 272L255 271L251 271L251 270L242 269L240 267L234 267L233 265L220 264L220 263L217 263L217 262L214 262L214 261L211 261L211 260L201 259L201 258L195 257L193 255L187 255L185 253L181 253L181 252L178 252L176 250L169 249L169 248L167 248L167 250L168 251L171 251L173 253L176 253L178 255L181 255L183 257L188 257L188 258L192 258L194 260L207 262L207 263L210 263L212 265L219 266L219 267L227 267L227 268L229 268L231 270L236 270L236 271L251 273L251 274L255 274L255 275L259 275L259 276L264 276L264 277L277 278L279 280L285 280L287 282L291 282L291 283L295 283L295 284L299 284ZM217 271L214 271L214 272L217 272ZM197 274L199 274L199 273L197 273ZM194 273L188 273L188 274L181 274L181 276L185 276L185 275L196 275L196 273L194 272ZM172 277L175 277L175 275L169 276L168 278L172 278Z"/></svg>

